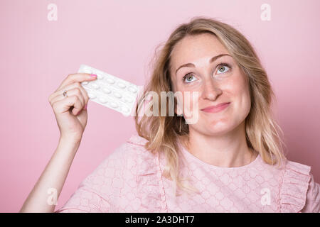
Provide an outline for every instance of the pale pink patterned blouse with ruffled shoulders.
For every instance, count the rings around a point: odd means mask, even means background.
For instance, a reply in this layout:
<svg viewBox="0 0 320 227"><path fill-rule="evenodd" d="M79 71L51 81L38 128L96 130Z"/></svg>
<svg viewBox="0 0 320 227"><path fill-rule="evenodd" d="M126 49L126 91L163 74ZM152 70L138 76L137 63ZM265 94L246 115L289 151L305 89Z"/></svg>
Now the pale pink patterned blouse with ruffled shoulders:
<svg viewBox="0 0 320 227"><path fill-rule="evenodd" d="M161 175L164 156L146 150L146 141L132 135L55 212L320 212L320 185L308 165L277 169L258 155L245 166L217 167L182 145L180 171L200 193L175 197L174 183Z"/></svg>

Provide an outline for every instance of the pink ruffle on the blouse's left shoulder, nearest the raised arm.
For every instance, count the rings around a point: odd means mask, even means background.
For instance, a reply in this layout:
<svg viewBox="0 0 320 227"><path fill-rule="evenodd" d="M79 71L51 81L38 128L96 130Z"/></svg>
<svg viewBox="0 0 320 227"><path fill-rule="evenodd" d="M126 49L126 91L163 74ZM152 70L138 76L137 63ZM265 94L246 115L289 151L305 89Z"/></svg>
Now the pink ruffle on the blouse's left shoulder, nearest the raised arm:
<svg viewBox="0 0 320 227"><path fill-rule="evenodd" d="M139 199L141 201L141 212L165 213L166 206L164 184L161 179L159 154L152 154L144 148L148 140L139 135L132 135L129 143L139 145L137 147L137 184Z"/></svg>

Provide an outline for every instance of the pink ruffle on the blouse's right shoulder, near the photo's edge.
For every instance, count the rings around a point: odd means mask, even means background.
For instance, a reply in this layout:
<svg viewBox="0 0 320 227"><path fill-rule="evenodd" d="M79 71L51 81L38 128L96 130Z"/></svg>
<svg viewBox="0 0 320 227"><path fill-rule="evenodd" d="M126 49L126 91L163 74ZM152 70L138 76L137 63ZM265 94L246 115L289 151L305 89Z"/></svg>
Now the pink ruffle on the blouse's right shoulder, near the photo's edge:
<svg viewBox="0 0 320 227"><path fill-rule="evenodd" d="M311 167L298 162L288 161L284 168L280 186L280 212L301 212L306 205L306 194L311 179Z"/></svg>

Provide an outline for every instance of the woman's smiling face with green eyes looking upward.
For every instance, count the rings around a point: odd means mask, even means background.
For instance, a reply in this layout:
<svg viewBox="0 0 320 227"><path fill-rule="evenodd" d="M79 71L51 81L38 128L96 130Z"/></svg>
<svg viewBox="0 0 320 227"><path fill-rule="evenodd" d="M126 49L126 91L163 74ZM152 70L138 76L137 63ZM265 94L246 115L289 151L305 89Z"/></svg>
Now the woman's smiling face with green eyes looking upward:
<svg viewBox="0 0 320 227"><path fill-rule="evenodd" d="M233 57L224 55L210 62L212 57L228 54L228 50L214 35L189 35L174 47L171 57L171 79L174 92L182 92L183 115L186 116L186 93L198 92L189 111L198 111L198 121L189 130L205 135L222 135L239 126L250 112L250 92L247 77ZM181 67L186 63L187 65ZM223 65L221 65L223 64ZM226 65L225 65L226 64ZM204 111L208 106L230 103L218 112ZM179 113L178 113L179 114Z"/></svg>

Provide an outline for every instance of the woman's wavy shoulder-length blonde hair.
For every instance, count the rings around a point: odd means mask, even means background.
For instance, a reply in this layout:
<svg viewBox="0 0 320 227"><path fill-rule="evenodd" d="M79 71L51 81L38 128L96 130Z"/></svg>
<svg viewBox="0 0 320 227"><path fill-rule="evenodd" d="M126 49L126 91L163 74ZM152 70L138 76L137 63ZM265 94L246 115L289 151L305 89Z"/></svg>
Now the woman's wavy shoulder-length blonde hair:
<svg viewBox="0 0 320 227"><path fill-rule="evenodd" d="M151 153L163 153L166 158L166 168L164 177L174 180L174 192L176 186L186 192L198 192L198 190L188 184L183 183L185 179L179 176L179 150L178 143L183 136L188 138L188 124L180 116L174 113L169 116L166 109L166 116L146 116L141 117L141 111L149 92L173 92L171 81L171 54L174 46L187 35L199 35L209 33L216 38L228 50L231 56L238 63L245 75L249 79L251 109L245 119L245 133L249 148L260 153L262 160L270 165L278 163L280 166L284 160L282 144L279 133L282 129L274 120L272 114L272 101L275 100L274 92L267 77L267 73L262 67L259 57L250 45L250 42L232 26L208 17L191 18L189 23L178 26L169 39L164 43L159 52L156 50L153 61L151 61L151 78L144 88L144 94L139 98L136 106L136 116L134 118L137 133L148 140L145 145L146 150ZM176 106L176 102L174 104ZM160 109L159 103L159 109ZM181 122L181 124L180 124ZM181 125L181 133L179 126ZM177 195L177 194L176 194Z"/></svg>

